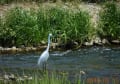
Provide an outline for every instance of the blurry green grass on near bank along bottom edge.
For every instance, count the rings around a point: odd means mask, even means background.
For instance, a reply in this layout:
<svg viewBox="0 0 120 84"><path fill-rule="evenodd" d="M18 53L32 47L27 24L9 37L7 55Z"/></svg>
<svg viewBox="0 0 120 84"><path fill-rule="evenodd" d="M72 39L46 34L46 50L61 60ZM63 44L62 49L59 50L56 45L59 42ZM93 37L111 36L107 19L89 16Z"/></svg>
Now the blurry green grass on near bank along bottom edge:
<svg viewBox="0 0 120 84"><path fill-rule="evenodd" d="M30 77L26 76L25 78L22 78L21 76L17 76L12 80L0 80L0 84L72 84L72 82L75 82L75 84L81 84L79 79L78 81L70 81L66 73L40 73L38 71L32 72L32 76Z"/></svg>

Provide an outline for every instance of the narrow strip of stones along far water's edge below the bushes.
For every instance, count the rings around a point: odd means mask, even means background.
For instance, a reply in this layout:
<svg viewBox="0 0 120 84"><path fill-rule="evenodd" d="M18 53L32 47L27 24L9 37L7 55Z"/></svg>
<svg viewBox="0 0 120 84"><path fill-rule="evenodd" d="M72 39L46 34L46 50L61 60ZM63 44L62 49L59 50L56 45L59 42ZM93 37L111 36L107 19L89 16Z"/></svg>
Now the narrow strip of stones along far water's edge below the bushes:
<svg viewBox="0 0 120 84"><path fill-rule="evenodd" d="M68 47L69 46L69 47ZM103 39L102 41L94 42L85 42L82 45L78 45L75 43L74 45L57 45L55 43L52 43L50 47L50 51L65 51L65 50L76 50L79 48L87 48L92 46L109 46L109 47L120 47L120 41L113 40L112 43L108 42L107 40ZM38 46L38 47L21 47L17 48L15 46L11 48L4 48L0 47L0 54L17 54L17 53L29 53L29 52L42 52L46 49L47 45Z"/></svg>

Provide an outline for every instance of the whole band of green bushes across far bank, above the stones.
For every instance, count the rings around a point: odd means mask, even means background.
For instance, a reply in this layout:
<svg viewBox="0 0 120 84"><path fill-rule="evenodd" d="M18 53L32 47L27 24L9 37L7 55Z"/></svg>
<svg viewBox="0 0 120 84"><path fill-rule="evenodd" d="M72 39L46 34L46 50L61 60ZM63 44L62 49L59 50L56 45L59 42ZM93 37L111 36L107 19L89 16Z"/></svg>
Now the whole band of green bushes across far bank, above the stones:
<svg viewBox="0 0 120 84"><path fill-rule="evenodd" d="M102 43L102 39L120 40L120 10L115 2L101 5L97 22L91 18L94 15L90 10L83 10L79 4L50 4L40 4L37 9L17 6L7 10L0 17L0 46L39 46L47 43L48 33L54 35L54 43L67 48L85 42Z"/></svg>

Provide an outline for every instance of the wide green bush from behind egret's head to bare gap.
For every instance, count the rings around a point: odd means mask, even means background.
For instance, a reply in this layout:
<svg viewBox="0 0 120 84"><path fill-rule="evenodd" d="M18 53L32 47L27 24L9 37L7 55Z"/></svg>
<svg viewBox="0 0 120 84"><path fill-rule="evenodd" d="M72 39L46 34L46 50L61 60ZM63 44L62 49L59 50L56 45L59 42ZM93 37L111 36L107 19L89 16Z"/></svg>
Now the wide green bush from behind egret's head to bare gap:
<svg viewBox="0 0 120 84"><path fill-rule="evenodd" d="M90 17L87 12L81 10L75 12L59 7L42 11L38 13L38 25L42 35L50 31L65 44L71 41L82 43L88 38Z"/></svg>

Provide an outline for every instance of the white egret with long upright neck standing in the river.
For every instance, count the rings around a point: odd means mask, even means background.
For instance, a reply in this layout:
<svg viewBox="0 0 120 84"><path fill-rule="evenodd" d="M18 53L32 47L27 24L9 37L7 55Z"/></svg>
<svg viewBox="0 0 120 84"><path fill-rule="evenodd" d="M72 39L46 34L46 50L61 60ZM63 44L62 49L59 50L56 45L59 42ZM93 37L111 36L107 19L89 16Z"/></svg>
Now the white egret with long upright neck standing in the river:
<svg viewBox="0 0 120 84"><path fill-rule="evenodd" d="M40 67L43 67L43 70L46 69L47 59L49 58L49 47L50 47L50 37L51 36L52 36L52 34L48 35L48 46L38 59L38 65Z"/></svg>

